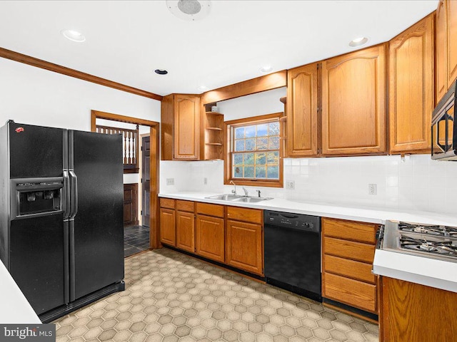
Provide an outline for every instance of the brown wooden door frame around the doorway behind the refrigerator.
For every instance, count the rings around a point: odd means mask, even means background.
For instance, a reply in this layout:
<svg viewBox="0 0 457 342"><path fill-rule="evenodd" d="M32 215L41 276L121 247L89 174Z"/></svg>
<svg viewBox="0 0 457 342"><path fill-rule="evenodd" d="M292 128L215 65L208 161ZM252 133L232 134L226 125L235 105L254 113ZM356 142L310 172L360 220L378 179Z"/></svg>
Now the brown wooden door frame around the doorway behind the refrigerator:
<svg viewBox="0 0 457 342"><path fill-rule="evenodd" d="M149 135L151 137L151 152L149 155L149 177L151 179L149 196L150 196L150 214L149 217L149 247L157 249L159 244L159 138L160 123L156 121L132 118L130 116L101 112L91 110L91 131L96 132L96 119L114 120L121 123L133 123L134 125L149 126Z"/></svg>

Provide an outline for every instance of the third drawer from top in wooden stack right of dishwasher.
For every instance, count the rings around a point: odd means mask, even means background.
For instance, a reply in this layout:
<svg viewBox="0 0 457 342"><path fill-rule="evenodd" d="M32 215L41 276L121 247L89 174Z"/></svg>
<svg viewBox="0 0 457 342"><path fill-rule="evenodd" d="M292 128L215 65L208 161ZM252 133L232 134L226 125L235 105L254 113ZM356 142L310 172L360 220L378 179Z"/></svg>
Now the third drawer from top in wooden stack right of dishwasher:
<svg viewBox="0 0 457 342"><path fill-rule="evenodd" d="M376 284L376 276L371 273L371 264L360 261L323 254L323 271Z"/></svg>

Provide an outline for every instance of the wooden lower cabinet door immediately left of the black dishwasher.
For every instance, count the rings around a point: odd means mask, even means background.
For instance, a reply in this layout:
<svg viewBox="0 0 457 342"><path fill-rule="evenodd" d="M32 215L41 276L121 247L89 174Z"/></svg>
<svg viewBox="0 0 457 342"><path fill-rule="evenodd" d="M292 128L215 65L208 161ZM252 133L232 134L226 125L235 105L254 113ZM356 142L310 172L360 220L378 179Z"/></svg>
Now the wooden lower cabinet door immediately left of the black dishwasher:
<svg viewBox="0 0 457 342"><path fill-rule="evenodd" d="M261 224L227 220L226 264L254 274L263 274Z"/></svg>

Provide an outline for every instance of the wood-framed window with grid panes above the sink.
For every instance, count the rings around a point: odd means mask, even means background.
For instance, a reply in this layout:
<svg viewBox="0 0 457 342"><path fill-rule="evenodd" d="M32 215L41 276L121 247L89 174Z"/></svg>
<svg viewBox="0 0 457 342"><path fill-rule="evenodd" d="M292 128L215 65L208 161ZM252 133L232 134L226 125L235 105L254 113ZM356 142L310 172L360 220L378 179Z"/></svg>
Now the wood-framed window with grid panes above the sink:
<svg viewBox="0 0 457 342"><path fill-rule="evenodd" d="M282 187L283 113L227 121L225 182Z"/></svg>

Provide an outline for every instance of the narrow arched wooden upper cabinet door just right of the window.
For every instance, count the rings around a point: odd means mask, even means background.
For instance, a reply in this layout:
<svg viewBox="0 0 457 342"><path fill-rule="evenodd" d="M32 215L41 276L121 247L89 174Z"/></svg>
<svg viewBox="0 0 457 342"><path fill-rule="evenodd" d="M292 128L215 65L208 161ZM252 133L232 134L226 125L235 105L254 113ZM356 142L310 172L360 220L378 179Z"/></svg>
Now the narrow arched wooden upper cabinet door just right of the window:
<svg viewBox="0 0 457 342"><path fill-rule="evenodd" d="M288 71L287 155L318 153L318 63Z"/></svg>

